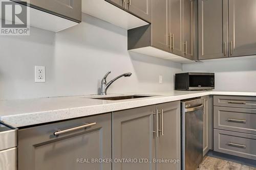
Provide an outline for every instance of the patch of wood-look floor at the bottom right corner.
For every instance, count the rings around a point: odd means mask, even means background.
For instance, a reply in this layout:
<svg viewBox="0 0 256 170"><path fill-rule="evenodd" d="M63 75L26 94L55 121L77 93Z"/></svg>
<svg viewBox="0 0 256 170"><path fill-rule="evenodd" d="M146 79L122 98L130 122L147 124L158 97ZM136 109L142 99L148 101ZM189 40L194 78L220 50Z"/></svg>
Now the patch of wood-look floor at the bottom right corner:
<svg viewBox="0 0 256 170"><path fill-rule="evenodd" d="M197 170L256 170L256 167L206 156Z"/></svg>

